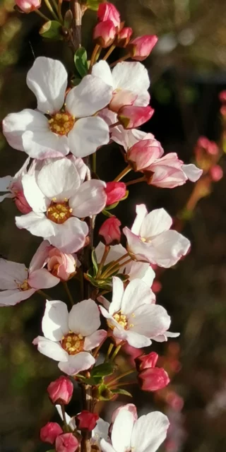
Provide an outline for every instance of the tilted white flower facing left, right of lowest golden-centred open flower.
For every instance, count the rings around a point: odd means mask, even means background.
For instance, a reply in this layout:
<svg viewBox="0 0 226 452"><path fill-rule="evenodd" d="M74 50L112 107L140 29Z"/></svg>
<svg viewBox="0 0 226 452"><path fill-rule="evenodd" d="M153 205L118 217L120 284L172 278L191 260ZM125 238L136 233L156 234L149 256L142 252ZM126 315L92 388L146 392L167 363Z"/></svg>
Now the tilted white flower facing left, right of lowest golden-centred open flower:
<svg viewBox="0 0 226 452"><path fill-rule="evenodd" d="M155 295L141 280L131 281L124 290L122 281L114 277L112 303L104 297L99 301L108 308L107 311L100 306L100 311L114 337L125 340L132 347L147 347L151 344L150 338L165 334L169 328L167 311L155 304Z"/></svg>

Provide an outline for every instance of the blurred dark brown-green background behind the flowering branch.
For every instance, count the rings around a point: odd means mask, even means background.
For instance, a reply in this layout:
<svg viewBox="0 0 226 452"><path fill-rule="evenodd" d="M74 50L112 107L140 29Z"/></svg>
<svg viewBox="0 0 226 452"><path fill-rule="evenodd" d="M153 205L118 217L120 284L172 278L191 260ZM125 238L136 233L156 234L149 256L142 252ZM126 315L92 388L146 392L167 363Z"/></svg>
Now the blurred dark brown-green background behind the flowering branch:
<svg viewBox="0 0 226 452"><path fill-rule="evenodd" d="M199 136L221 142L218 94L226 88L226 2L119 0L114 3L135 36L152 33L159 36L157 47L144 61L150 73L155 115L143 129L154 133L166 152L177 152L184 162L191 162ZM84 18L83 45L89 52L92 52L94 24L95 13L88 11ZM61 59L69 72L73 66L66 43L42 40L38 34L42 19L35 13L15 13L13 1L1 0L0 25L0 117L3 119L9 112L35 108L35 98L25 84L34 57ZM120 54L116 50L111 61ZM13 175L24 162L25 154L11 149L4 136L0 138L0 176ZM223 157L220 165L225 170ZM98 151L97 171L103 179L111 180L123 167L124 160L117 146ZM115 214L123 225L131 225L135 203L145 202L149 209L164 207L174 216L184 208L192 189L190 182L172 190L134 185L129 200L119 203ZM213 184L209 196L201 199L191 220L184 223L183 233L191 240L191 253L158 278L162 290L157 302L172 316L171 330L181 332L179 340L152 347L164 356L162 364L171 372L172 383L160 394L141 393L136 389L134 396L140 412L154 408L165 410L169 416L172 427L162 447L166 452L222 452L226 448L225 191L222 178ZM1 203L0 253L28 266L40 240L25 230L17 230L16 214L16 206L11 201ZM72 286L71 289L77 290ZM65 299L59 286L51 290L51 295ZM49 420L57 420L46 393L49 382L59 375L57 363L40 355L32 345L33 338L41 333L43 310L40 295L16 307L1 309L2 452L47 451L48 446L39 442L39 430ZM122 365L129 362L127 355L121 359L124 359ZM78 398L79 392L75 391L73 406L77 412ZM128 400L122 398L120 402ZM112 411L110 403L108 408Z"/></svg>

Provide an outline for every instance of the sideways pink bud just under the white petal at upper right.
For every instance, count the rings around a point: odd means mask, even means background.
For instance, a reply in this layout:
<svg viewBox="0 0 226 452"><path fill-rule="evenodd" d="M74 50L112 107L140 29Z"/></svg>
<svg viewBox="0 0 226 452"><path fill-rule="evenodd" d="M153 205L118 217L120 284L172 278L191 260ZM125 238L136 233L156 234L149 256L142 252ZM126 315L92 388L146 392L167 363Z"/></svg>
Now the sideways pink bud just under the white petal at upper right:
<svg viewBox="0 0 226 452"><path fill-rule="evenodd" d="M154 114L154 109L152 107L133 107L130 105L125 105L119 109L117 119L124 126L124 129L135 129L141 126Z"/></svg>

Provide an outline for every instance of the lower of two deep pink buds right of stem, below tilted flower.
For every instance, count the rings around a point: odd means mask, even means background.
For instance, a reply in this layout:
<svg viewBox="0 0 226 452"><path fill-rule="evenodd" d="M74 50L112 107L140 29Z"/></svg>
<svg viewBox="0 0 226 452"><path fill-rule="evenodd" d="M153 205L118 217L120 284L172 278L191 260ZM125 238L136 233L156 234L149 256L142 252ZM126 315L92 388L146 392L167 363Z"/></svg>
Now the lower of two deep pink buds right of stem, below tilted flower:
<svg viewBox="0 0 226 452"><path fill-rule="evenodd" d="M162 367L150 367L138 374L138 382L143 391L157 391L169 383L169 376Z"/></svg>

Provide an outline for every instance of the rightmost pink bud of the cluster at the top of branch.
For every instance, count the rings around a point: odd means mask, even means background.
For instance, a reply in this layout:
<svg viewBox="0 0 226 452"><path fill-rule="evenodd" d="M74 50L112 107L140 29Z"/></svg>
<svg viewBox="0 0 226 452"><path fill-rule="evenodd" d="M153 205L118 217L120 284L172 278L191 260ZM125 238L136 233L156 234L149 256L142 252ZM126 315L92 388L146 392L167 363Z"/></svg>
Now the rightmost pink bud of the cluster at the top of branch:
<svg viewBox="0 0 226 452"><path fill-rule="evenodd" d="M144 35L135 37L135 39L129 42L129 53L132 59L136 59L137 61L143 61L143 59L147 58L150 55L153 47L157 42L156 35Z"/></svg>

